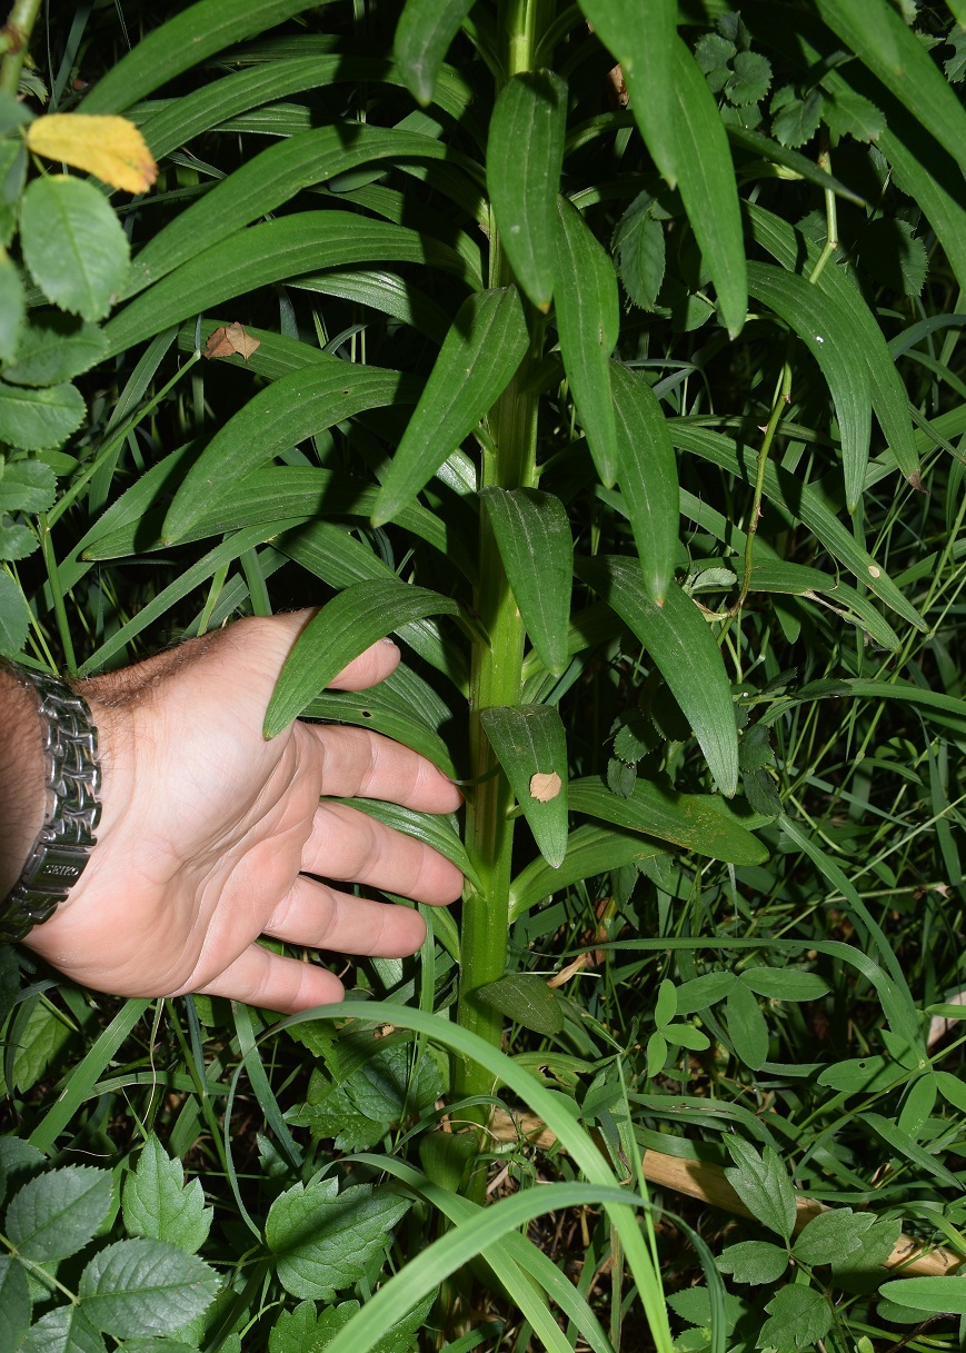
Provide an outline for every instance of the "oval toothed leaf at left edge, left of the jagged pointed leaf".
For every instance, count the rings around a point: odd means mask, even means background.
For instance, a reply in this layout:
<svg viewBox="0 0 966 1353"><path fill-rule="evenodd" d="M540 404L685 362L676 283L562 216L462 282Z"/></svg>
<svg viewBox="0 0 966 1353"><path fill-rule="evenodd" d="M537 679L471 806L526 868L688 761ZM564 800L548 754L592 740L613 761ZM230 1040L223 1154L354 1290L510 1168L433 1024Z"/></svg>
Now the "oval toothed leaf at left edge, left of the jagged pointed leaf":
<svg viewBox="0 0 966 1353"><path fill-rule="evenodd" d="M111 1172L66 1165L24 1184L7 1208L4 1226L18 1253L43 1264L76 1254L111 1207Z"/></svg>

